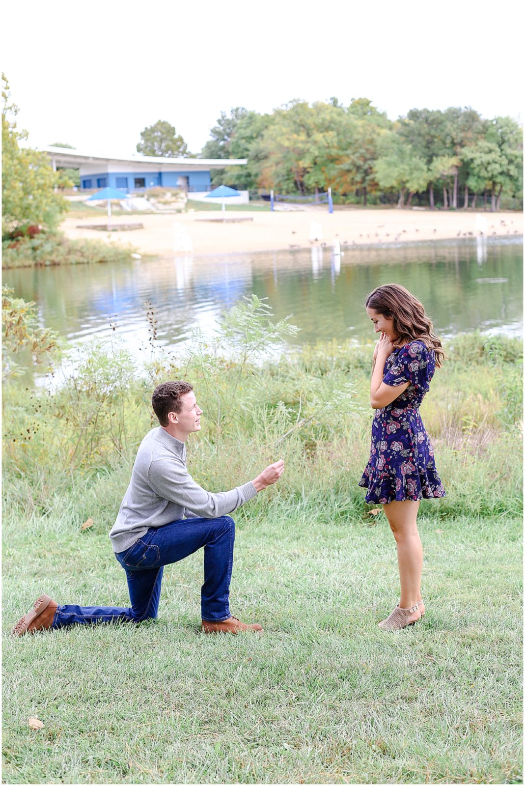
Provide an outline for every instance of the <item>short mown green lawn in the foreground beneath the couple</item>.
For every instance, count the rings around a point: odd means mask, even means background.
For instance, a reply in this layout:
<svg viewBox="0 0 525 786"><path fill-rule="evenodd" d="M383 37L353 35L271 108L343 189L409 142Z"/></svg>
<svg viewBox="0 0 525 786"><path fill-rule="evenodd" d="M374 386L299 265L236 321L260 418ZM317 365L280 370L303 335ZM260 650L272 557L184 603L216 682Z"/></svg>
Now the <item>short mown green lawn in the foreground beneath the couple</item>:
<svg viewBox="0 0 525 786"><path fill-rule="evenodd" d="M232 611L263 634L198 633L200 552L165 569L156 623L13 640L42 591L128 603L107 527L60 507L4 521L5 783L521 782L521 520L431 503L427 614L395 634L377 628L397 592L384 514L276 497L235 514Z"/></svg>

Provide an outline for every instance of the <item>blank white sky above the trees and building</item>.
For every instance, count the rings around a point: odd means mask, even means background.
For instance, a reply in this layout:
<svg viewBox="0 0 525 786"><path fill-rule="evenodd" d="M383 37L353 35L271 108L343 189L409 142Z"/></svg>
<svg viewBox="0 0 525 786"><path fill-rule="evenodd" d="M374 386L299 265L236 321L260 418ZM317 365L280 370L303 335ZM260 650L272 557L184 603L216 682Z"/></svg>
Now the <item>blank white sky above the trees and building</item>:
<svg viewBox="0 0 525 786"><path fill-rule="evenodd" d="M470 105L520 118L514 0L18 0L2 70L29 144L135 151L168 120L200 152L222 109L367 97L391 119Z"/></svg>

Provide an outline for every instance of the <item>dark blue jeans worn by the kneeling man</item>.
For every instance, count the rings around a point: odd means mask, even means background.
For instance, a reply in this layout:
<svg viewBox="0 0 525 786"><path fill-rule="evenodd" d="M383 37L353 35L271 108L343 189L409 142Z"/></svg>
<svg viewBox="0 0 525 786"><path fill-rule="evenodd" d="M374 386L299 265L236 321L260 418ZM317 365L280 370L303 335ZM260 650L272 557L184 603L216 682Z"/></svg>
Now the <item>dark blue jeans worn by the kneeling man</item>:
<svg viewBox="0 0 525 786"><path fill-rule="evenodd" d="M53 628L67 625L130 622L155 619L159 608L163 566L204 546L204 584L200 588L201 617L220 623L229 613L229 582L233 567L235 524L220 519L185 519L150 528L130 549L116 554L126 571L130 608L114 606L59 606Z"/></svg>

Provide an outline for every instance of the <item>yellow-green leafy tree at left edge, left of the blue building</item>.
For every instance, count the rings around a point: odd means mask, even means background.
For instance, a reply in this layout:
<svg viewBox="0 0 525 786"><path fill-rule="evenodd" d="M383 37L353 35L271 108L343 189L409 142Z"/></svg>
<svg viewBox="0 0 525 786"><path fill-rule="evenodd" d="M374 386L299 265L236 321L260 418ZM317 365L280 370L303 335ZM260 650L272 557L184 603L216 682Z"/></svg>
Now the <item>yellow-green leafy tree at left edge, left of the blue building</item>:
<svg viewBox="0 0 525 786"><path fill-rule="evenodd" d="M57 174L46 153L19 147L28 133L17 130L18 108L9 101L9 84L2 74L2 236L28 226L54 230L67 209L54 190Z"/></svg>

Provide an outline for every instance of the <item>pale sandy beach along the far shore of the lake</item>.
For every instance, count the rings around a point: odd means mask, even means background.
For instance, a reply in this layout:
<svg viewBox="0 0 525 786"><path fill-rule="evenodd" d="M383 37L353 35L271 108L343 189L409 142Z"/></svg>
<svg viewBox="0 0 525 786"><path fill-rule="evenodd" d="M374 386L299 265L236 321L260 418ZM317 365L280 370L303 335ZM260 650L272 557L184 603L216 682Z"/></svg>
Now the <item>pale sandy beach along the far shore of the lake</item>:
<svg viewBox="0 0 525 786"><path fill-rule="evenodd" d="M414 241L449 240L456 237L479 235L479 219L486 221L487 237L510 237L523 234L523 213L441 212L430 210L336 210L330 215L326 209L305 211L265 212L227 211L227 219L252 219L241 222L222 222L216 211L195 211L182 215L130 215L116 217L112 223L141 222L144 228L127 232L89 230L90 219L64 220L61 229L72 238L88 237L108 243L132 244L141 254L171 256L174 254L174 222L181 224L193 244L193 252L200 255L231 254L236 252L286 251L310 248L311 245L332 246L339 240L342 247L410 243ZM483 221L482 219L482 221ZM104 217L101 215L101 222ZM321 228L312 230L312 222ZM318 237L317 240L314 237ZM187 253L187 252L186 252Z"/></svg>

